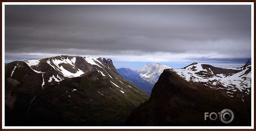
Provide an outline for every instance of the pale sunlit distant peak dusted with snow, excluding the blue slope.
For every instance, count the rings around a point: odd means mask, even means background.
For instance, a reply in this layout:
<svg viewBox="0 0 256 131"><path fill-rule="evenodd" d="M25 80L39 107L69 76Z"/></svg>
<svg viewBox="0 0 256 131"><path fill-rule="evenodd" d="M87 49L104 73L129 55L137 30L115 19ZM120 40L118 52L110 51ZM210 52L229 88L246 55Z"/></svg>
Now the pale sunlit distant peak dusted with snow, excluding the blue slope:
<svg viewBox="0 0 256 131"><path fill-rule="evenodd" d="M145 66L137 69L137 72L143 79L148 80L151 83L156 83L160 74L164 69L169 69L170 67L165 66L163 64L155 63L155 64L146 64Z"/></svg>

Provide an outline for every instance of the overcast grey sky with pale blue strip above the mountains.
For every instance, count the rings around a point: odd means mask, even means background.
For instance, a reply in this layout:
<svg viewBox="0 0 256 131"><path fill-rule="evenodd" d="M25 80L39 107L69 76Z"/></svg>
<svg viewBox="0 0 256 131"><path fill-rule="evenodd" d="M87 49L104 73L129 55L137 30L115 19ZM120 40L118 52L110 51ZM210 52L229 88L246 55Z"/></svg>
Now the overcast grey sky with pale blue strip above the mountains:
<svg viewBox="0 0 256 131"><path fill-rule="evenodd" d="M61 54L241 65L251 5L5 5L6 63Z"/></svg>

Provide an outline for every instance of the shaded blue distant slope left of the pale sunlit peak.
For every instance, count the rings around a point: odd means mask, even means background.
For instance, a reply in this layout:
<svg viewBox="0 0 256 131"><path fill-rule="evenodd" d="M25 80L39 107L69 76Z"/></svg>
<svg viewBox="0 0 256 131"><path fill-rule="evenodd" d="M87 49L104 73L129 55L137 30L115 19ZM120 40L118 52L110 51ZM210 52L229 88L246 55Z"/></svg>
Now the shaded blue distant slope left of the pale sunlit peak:
<svg viewBox="0 0 256 131"><path fill-rule="evenodd" d="M120 68L116 70L124 79L134 84L137 88L140 88L145 93L151 94L154 84L142 78L136 70L129 68Z"/></svg>

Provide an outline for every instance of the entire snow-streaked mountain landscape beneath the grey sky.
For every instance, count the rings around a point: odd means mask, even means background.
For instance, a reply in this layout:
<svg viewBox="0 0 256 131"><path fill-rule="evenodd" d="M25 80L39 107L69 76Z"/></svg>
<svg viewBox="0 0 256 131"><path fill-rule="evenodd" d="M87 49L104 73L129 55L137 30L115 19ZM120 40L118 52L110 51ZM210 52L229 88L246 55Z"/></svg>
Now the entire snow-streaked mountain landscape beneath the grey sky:
<svg viewBox="0 0 256 131"><path fill-rule="evenodd" d="M155 63L133 70L89 56L14 61L5 64L5 121L9 126L221 126L201 117L228 108L236 114L229 125L246 126L250 62L241 68L192 63L180 69Z"/></svg>

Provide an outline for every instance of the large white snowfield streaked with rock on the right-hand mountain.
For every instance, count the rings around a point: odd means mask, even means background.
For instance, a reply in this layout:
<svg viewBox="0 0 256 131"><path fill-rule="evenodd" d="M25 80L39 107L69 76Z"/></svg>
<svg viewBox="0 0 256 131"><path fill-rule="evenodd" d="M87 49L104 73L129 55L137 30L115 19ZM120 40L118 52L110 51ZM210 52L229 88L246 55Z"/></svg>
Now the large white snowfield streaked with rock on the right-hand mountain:
<svg viewBox="0 0 256 131"><path fill-rule="evenodd" d="M238 89L240 91L245 90L245 88L251 87L251 73L246 74L246 71L250 68L247 66L246 68L224 68L224 69L233 69L233 70L241 70L235 74L213 74L211 68L209 70L202 68L202 63L196 63L194 65L190 65L185 69L170 69L176 72L179 77L187 80L188 82L201 82L207 83L209 85L222 85L226 88L226 90L235 90ZM200 72L201 74L197 74ZM203 75L202 75L203 74ZM212 77L207 76L207 74L212 74ZM232 87L232 88L230 88ZM212 88L212 87L211 87ZM218 89L225 89L219 87Z"/></svg>

